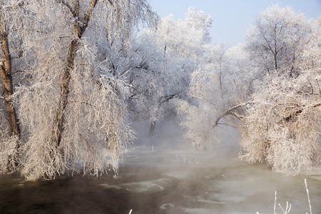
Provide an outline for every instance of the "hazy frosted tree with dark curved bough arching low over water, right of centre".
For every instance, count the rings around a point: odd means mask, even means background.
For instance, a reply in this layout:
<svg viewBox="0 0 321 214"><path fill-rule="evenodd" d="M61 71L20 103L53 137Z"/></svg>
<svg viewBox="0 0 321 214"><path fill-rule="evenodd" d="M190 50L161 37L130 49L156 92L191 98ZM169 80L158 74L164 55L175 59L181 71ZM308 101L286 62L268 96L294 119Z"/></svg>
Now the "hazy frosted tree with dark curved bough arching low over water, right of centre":
<svg viewBox="0 0 321 214"><path fill-rule="evenodd" d="M195 103L180 101L178 111L185 116L183 126L193 145L205 148L218 141L217 126L235 126L240 108L251 93L250 63L241 47L213 47L210 61L193 72L190 96Z"/></svg>

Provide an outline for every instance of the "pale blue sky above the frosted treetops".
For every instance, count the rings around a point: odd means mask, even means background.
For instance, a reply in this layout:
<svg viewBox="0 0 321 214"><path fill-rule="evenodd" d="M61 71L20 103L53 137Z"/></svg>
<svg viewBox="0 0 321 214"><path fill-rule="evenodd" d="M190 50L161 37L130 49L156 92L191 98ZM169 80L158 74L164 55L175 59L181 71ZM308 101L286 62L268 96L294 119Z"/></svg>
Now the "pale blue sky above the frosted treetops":
<svg viewBox="0 0 321 214"><path fill-rule="evenodd" d="M212 43L225 42L229 46L243 42L245 32L260 12L275 3L292 6L309 18L321 16L321 0L150 0L149 3L161 18L173 14L174 19L185 19L190 6L210 14Z"/></svg>

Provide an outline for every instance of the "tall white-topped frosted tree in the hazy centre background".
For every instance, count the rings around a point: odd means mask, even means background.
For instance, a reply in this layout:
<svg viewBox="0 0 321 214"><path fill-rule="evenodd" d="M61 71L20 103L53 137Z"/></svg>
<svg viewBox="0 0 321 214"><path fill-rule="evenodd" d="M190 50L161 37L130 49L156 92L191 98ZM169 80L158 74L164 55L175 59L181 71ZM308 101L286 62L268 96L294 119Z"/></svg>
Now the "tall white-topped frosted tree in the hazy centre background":
<svg viewBox="0 0 321 214"><path fill-rule="evenodd" d="M144 121L175 115L173 98L188 99L190 74L208 54L211 19L203 11L189 9L185 21L165 17L156 31L144 31L136 44L138 71L133 72L131 108Z"/></svg>

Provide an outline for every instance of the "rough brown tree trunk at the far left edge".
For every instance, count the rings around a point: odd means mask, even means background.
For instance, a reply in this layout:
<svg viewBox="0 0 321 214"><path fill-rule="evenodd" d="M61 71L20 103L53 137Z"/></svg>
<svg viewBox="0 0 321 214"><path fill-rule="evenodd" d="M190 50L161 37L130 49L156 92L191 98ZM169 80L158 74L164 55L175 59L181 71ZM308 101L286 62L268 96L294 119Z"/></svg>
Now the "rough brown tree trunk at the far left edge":
<svg viewBox="0 0 321 214"><path fill-rule="evenodd" d="M1 10L1 9L0 9ZM16 116L16 109L13 106L13 100L11 98L14 93L14 86L12 83L12 71L11 71L11 54L9 50L8 35L6 34L5 22L2 12L0 11L0 42L1 42L1 56L2 61L0 65L0 77L2 79L2 88L4 88L4 104L6 106L6 115L9 119L10 136L18 136L20 138L19 120ZM14 166L19 164L19 141L16 141L14 156ZM8 168L12 168L8 165Z"/></svg>

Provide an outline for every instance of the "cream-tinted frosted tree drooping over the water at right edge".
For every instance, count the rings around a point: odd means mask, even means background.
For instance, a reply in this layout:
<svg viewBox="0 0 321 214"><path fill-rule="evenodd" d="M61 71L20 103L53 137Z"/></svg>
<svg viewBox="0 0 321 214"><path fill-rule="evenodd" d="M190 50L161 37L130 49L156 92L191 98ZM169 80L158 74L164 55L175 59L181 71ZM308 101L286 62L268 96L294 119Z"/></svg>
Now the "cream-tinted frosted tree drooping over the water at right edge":
<svg viewBox="0 0 321 214"><path fill-rule="evenodd" d="M308 70L260 83L240 127L242 158L296 173L320 163L320 77L320 69Z"/></svg>

